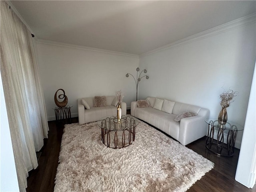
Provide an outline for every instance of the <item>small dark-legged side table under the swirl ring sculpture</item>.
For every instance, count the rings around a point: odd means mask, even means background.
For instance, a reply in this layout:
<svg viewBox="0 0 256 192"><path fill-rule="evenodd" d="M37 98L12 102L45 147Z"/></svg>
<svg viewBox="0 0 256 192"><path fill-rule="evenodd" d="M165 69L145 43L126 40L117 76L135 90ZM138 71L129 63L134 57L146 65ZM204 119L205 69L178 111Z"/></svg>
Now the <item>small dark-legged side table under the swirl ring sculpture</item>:
<svg viewBox="0 0 256 192"><path fill-rule="evenodd" d="M71 110L70 110L71 107L73 106L67 105L65 107L52 108L54 109L54 112L55 112L56 124L58 124L63 120L65 120L65 124L71 123Z"/></svg>

